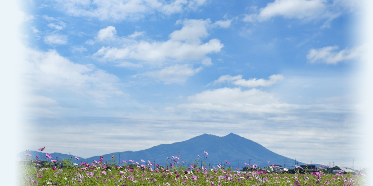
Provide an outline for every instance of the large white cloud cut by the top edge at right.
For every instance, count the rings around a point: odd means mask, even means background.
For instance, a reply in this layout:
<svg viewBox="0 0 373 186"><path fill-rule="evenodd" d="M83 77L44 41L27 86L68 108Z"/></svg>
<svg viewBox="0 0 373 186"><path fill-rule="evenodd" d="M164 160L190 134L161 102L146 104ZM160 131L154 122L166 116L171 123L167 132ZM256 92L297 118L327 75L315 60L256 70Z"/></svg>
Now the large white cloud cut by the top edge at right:
<svg viewBox="0 0 373 186"><path fill-rule="evenodd" d="M244 22L255 22L282 16L288 19L321 20L327 19L323 27L341 15L342 3L328 3L326 0L275 0L260 9L258 14L245 15Z"/></svg>

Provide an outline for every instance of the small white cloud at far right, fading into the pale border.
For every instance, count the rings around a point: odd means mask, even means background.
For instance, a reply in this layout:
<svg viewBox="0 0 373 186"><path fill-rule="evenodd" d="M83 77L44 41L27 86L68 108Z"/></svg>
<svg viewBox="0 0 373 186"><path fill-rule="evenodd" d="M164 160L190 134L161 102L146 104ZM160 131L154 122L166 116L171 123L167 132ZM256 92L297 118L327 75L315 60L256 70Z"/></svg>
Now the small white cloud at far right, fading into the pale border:
<svg viewBox="0 0 373 186"><path fill-rule="evenodd" d="M327 64L337 64L341 61L353 60L360 57L364 45L355 48L345 48L339 52L335 52L338 46L329 46L318 49L310 49L307 54L307 60L311 63L325 62Z"/></svg>

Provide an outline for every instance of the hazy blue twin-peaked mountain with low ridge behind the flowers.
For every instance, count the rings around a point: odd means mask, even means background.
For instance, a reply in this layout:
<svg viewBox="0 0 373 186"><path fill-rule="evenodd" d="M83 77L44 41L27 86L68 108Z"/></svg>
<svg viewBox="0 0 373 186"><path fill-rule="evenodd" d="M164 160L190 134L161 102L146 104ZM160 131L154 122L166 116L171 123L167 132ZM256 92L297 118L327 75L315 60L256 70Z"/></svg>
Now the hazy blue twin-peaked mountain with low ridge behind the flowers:
<svg viewBox="0 0 373 186"><path fill-rule="evenodd" d="M157 163L159 165L165 165L167 157L178 156L180 152L180 161L187 160L188 163L192 163L192 160L197 159L197 154L203 157L204 151L209 153L207 155L207 165L215 166L218 163L225 164L227 160L231 167L236 167L237 164L240 169L244 167L244 163L257 164L258 166L267 166L267 161L270 161L270 165L276 164L285 166L287 168L293 169L295 166L295 160L287 158L285 156L276 154L257 142L248 140L246 138L240 137L236 134L228 134L224 137L218 137L210 134L203 134L186 141L176 142L173 144L162 144L155 147L151 147L141 151L124 151L113 153L118 160L120 155L120 162L123 160L128 161L129 159L141 163L141 159L147 161L150 160L152 163ZM41 156L41 152L29 151L30 154L35 157ZM21 158L25 157L25 154L19 153ZM73 157L73 155L52 153L52 157ZM112 158L112 154L102 155L104 161L109 161ZM43 160L45 155L43 157ZM92 162L93 160L98 160L100 156L94 156L90 158L80 158L78 162ZM53 158L55 159L55 158ZM298 165L303 165L304 163L298 162ZM319 164L313 164L319 166ZM227 164L228 166L228 164Z"/></svg>

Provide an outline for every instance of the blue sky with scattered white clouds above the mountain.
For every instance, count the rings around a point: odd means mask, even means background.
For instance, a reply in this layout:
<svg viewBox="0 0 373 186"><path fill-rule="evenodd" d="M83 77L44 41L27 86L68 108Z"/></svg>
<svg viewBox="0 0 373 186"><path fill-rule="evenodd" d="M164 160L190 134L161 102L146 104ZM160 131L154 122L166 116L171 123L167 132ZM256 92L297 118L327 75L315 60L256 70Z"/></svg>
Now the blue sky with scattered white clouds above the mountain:
<svg viewBox="0 0 373 186"><path fill-rule="evenodd" d="M18 151L88 158L233 132L304 163L364 166L361 6L24 0Z"/></svg>

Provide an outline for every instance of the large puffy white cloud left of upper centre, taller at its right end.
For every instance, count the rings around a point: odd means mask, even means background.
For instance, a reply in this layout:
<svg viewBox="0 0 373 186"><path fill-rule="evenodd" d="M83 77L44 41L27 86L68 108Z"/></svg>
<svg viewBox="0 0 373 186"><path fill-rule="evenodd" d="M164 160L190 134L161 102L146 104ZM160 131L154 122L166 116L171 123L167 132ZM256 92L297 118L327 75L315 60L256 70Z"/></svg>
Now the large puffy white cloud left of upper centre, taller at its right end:
<svg viewBox="0 0 373 186"><path fill-rule="evenodd" d="M103 61L116 61L123 59L133 59L147 62L160 62L164 60L201 60L206 54L219 52L223 44L219 39L210 39L209 42L202 43L202 38L209 35L207 27L210 20L179 20L183 27L173 31L169 35L169 40L159 41L136 41L134 39L117 38L118 42L125 42L125 48L102 47L94 57ZM111 31L114 33L115 28Z"/></svg>

